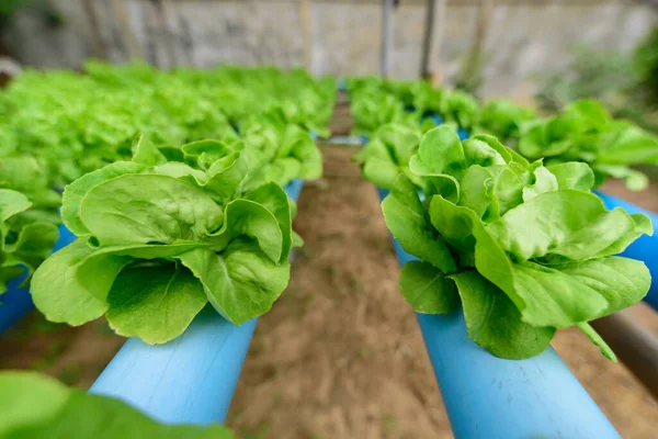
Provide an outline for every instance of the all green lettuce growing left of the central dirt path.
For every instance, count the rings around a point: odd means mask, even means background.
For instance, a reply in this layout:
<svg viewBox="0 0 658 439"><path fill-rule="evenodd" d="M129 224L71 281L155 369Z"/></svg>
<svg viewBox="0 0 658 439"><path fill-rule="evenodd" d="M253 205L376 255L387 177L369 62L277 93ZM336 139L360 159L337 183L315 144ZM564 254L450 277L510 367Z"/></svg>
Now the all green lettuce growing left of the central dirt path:
<svg viewBox="0 0 658 439"><path fill-rule="evenodd" d="M48 319L104 316L148 344L206 306L235 324L264 314L302 245L284 188L321 176L313 135L328 135L334 95L331 79L271 68L94 61L15 78L0 92L0 302L27 271ZM78 239L50 255L61 222ZM0 438L234 437L30 373L1 374L0 401Z"/></svg>

